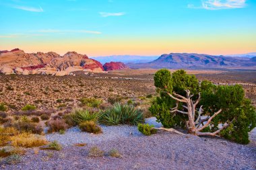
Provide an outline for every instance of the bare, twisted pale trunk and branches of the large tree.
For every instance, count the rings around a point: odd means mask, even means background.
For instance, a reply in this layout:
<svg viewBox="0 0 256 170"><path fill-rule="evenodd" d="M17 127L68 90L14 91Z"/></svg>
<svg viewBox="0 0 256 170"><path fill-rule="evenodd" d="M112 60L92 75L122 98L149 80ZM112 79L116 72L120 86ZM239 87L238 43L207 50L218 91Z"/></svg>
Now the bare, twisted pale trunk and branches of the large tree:
<svg viewBox="0 0 256 170"><path fill-rule="evenodd" d="M214 113L213 116L207 116L207 118L202 119L201 114L203 114L203 109L202 109L203 105L200 106L200 108L197 112L197 104L199 103L199 101L201 99L200 93L199 93L199 97L196 101L193 101L191 99L191 97L193 97L193 95L190 94L189 90L186 90L186 93L187 93L186 97L179 95L177 93L173 93L173 95L168 92L166 92L166 93L170 97L172 97L172 99L177 101L176 107L172 108L170 110L170 112L171 113L178 112L180 114L185 114L188 116L189 120L186 121L186 126L187 126L187 129L189 130L190 134L194 134L197 136L203 136L203 135L216 136L216 134L218 134L221 130L223 130L224 128L229 126L228 123L225 123L222 126L222 128L220 128L219 130L216 130L215 132L201 132L201 130L203 130L204 128L206 128L207 126L210 125L212 119L215 118L218 114L220 114L220 112L222 112L222 110L221 109L218 110L218 112ZM183 108L185 108L187 110L187 112L178 110L179 102L185 103L185 105L183 105ZM196 114L197 114L197 120L195 120ZM206 123L203 124L203 122L206 122Z"/></svg>

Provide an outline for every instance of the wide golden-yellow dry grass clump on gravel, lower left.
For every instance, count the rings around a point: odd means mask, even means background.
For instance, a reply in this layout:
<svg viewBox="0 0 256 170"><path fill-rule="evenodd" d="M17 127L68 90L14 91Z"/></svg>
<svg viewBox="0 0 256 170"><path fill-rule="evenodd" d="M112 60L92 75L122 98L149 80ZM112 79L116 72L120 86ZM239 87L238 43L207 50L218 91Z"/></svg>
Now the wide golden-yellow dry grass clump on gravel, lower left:
<svg viewBox="0 0 256 170"><path fill-rule="evenodd" d="M11 136L11 145L12 146L22 146L26 148L42 146L47 144L47 140L44 136L39 134L31 134L28 132L22 132L17 136Z"/></svg>

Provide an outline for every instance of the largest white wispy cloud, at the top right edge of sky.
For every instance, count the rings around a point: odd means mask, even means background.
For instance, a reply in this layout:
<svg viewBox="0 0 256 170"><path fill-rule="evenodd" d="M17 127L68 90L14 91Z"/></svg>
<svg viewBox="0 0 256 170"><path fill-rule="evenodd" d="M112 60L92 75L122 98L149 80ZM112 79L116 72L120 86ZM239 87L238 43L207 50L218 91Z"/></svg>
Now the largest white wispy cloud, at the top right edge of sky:
<svg viewBox="0 0 256 170"><path fill-rule="evenodd" d="M193 4L187 5L193 9L234 9L246 7L246 0L202 0L201 6L195 6Z"/></svg>

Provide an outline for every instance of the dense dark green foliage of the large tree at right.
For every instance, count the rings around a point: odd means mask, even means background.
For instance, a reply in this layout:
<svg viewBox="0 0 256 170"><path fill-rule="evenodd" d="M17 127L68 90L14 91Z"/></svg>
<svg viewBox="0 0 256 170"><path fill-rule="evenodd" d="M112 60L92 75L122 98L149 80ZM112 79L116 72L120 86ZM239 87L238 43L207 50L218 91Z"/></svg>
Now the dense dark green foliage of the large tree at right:
<svg viewBox="0 0 256 170"><path fill-rule="evenodd" d="M185 128L187 117L177 112L170 113L170 108L175 107L176 101L164 91L185 96L185 89L189 89L195 99L201 92L199 105L203 105L204 116L212 116L214 112L222 109L222 112L212 120L210 126L203 130L204 132L214 132L218 130L219 124L228 122L230 126L222 130L221 136L242 144L249 142L248 132L256 126L256 113L251 101L245 98L241 85L214 85L210 81L199 83L195 75L187 75L183 70L170 74L170 71L166 69L156 72L154 81L156 87L161 90L158 91L159 96L152 102L150 112L165 128L175 126ZM186 111L181 103L179 110Z"/></svg>

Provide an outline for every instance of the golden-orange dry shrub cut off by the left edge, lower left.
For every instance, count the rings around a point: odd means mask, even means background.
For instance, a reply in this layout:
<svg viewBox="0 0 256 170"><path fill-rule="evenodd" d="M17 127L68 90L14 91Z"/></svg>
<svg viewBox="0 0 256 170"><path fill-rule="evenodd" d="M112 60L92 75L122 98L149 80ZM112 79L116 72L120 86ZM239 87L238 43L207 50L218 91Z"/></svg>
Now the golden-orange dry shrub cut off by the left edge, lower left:
<svg viewBox="0 0 256 170"><path fill-rule="evenodd" d="M13 127L3 128L0 126L0 146L7 144L11 136L19 134L18 130Z"/></svg>

